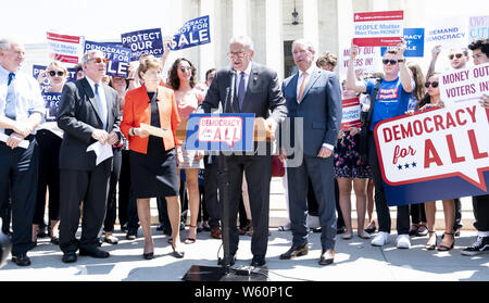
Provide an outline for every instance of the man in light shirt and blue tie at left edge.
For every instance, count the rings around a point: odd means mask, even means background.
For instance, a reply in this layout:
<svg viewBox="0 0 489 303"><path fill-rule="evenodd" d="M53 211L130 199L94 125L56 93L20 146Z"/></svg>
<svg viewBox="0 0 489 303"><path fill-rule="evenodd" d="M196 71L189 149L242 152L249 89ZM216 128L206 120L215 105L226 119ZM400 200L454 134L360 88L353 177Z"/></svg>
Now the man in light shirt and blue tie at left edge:
<svg viewBox="0 0 489 303"><path fill-rule="evenodd" d="M18 72L24 46L0 39L0 197L12 200L12 261L30 265L32 225L37 188L35 129L46 112L39 85ZM0 209L8 200L0 200Z"/></svg>

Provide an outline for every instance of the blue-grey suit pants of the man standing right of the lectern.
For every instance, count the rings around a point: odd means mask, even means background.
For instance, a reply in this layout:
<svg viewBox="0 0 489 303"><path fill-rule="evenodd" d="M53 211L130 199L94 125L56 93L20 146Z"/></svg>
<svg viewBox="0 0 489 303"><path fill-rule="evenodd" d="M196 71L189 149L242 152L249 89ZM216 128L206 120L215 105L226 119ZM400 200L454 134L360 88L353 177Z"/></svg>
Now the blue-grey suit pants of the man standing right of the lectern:
<svg viewBox="0 0 489 303"><path fill-rule="evenodd" d="M311 179L318 204L321 244L323 251L335 249L336 243L336 201L333 172L333 156L327 159L304 155L298 167L287 167L289 188L289 210L292 229L292 243L308 243L308 182ZM254 218L253 218L254 219Z"/></svg>

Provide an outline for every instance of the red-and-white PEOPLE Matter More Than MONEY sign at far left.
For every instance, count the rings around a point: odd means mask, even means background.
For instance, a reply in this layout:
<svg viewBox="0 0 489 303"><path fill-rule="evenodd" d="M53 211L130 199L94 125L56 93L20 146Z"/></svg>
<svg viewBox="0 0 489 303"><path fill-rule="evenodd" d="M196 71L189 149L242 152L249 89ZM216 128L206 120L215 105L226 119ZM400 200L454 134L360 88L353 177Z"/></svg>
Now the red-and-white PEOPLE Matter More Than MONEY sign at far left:
<svg viewBox="0 0 489 303"><path fill-rule="evenodd" d="M78 59L83 55L84 50L85 38L83 36L68 36L48 31L47 37L51 59L78 64Z"/></svg>

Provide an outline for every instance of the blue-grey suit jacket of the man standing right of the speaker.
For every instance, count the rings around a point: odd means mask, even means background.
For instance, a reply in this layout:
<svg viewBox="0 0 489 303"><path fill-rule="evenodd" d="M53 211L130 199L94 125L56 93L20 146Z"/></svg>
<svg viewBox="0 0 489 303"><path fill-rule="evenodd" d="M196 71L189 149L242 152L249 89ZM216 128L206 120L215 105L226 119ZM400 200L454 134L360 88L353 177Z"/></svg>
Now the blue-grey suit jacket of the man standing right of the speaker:
<svg viewBox="0 0 489 303"><path fill-rule="evenodd" d="M323 143L336 146L341 126L341 89L335 73L315 68L302 97L297 102L297 81L299 74L288 77L281 85L290 121L284 125L290 131L291 144L303 144L305 155L317 155ZM294 118L303 118L303 134L294 134ZM294 147L297 149L297 147ZM288 152L288 154L290 154Z"/></svg>

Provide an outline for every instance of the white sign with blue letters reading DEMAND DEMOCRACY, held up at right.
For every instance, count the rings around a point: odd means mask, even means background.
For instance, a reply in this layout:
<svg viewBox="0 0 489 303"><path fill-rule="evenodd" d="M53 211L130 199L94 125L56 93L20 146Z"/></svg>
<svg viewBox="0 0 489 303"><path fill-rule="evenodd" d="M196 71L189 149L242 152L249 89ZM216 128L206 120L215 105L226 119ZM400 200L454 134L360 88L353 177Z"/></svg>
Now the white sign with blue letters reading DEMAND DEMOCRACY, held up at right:
<svg viewBox="0 0 489 303"><path fill-rule="evenodd" d="M425 30L425 48L461 48L467 46L466 17L430 18Z"/></svg>

